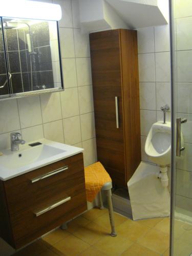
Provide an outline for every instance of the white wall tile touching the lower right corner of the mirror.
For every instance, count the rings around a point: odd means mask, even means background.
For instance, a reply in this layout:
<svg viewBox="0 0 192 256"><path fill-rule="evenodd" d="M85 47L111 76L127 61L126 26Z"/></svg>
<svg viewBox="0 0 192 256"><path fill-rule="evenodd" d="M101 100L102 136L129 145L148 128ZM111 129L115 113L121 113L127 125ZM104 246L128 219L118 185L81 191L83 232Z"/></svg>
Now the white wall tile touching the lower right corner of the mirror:
<svg viewBox="0 0 192 256"><path fill-rule="evenodd" d="M60 93L62 117L68 118L79 115L77 88L67 88Z"/></svg>

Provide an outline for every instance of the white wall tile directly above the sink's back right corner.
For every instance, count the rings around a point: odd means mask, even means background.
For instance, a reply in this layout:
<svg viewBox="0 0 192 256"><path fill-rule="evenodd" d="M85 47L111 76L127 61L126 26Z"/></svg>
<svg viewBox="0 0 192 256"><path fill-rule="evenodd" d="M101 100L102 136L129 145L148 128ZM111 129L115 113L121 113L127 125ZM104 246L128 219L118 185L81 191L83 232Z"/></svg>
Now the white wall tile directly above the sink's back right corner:
<svg viewBox="0 0 192 256"><path fill-rule="evenodd" d="M44 136L48 140L64 143L62 120L44 123Z"/></svg>

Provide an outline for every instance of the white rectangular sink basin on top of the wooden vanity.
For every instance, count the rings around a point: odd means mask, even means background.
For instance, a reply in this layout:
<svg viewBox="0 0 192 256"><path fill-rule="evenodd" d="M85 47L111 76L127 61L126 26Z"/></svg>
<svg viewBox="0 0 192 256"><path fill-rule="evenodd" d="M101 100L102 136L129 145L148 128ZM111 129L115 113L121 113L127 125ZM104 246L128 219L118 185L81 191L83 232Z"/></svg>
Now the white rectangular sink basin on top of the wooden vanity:
<svg viewBox="0 0 192 256"><path fill-rule="evenodd" d="M54 163L61 159L76 155L83 151L74 147L46 139L40 139L42 143L36 146L29 144L20 145L19 151L3 150L0 156L0 179L8 180L13 177L30 172L31 170Z"/></svg>

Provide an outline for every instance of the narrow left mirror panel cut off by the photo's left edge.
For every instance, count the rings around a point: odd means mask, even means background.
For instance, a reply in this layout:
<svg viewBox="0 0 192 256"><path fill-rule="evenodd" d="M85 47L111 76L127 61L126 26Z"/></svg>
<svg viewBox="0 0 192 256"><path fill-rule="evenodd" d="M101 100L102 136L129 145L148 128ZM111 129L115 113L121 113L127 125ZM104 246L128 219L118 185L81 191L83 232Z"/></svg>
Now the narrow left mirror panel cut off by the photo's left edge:
<svg viewBox="0 0 192 256"><path fill-rule="evenodd" d="M6 70L6 62L5 62L3 33L2 33L2 26L0 23L0 98L2 96L9 96L9 86L8 86L7 70Z"/></svg>

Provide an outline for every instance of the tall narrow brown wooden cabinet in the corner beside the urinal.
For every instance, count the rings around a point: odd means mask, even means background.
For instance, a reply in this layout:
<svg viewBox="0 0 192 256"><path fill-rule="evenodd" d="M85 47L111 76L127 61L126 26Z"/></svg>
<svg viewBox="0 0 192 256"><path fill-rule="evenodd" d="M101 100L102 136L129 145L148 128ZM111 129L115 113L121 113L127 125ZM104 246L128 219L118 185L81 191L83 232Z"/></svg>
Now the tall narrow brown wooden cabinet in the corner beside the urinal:
<svg viewBox="0 0 192 256"><path fill-rule="evenodd" d="M141 161L137 31L90 34L97 157L125 186Z"/></svg>

